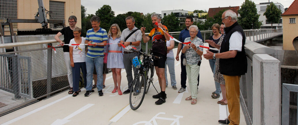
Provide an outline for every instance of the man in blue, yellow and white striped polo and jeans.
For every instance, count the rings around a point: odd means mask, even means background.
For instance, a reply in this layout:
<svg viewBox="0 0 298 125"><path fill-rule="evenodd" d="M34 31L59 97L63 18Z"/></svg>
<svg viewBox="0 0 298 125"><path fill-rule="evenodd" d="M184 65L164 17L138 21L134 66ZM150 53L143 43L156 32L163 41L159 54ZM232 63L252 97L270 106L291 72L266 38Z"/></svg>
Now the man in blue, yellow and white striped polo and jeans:
<svg viewBox="0 0 298 125"><path fill-rule="evenodd" d="M89 96L92 91L92 74L95 65L97 74L97 91L99 96L103 96L103 44L108 41L107 31L100 28L100 18L93 16L90 19L92 29L89 29L86 33L85 44L99 44L89 45L86 56L86 68L87 68L87 85L85 96Z"/></svg>

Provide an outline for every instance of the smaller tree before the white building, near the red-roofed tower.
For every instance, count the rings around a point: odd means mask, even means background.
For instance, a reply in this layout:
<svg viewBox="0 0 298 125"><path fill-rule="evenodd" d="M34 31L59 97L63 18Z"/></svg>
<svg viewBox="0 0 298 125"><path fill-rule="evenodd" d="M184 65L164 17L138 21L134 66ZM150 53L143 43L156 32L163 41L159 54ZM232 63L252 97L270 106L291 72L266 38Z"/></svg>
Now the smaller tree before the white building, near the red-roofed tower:
<svg viewBox="0 0 298 125"><path fill-rule="evenodd" d="M273 2L267 5L266 12L263 14L266 16L267 22L271 23L271 28L273 23L278 23L281 18L281 10L278 9Z"/></svg>

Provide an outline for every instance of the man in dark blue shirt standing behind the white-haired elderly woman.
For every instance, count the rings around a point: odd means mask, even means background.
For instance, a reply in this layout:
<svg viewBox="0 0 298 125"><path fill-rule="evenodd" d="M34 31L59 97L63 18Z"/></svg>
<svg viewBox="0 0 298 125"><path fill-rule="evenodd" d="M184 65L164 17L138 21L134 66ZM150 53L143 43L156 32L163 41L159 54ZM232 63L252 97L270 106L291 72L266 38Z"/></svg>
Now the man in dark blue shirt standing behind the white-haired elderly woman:
<svg viewBox="0 0 298 125"><path fill-rule="evenodd" d="M184 30L182 30L179 34L179 41L184 42L185 38L190 37L189 35L189 27L193 25L193 17L186 17L185 19L185 26L186 28ZM201 31L198 31L197 37L203 40L203 37L201 35ZM204 40L203 40L204 42ZM176 60L179 61L179 53L182 49L182 44L179 43L178 44L178 50L177 50L177 56L176 56ZM184 54L181 53L181 60L183 59ZM201 57L202 58L202 57ZM186 88L186 68L185 65L183 65L181 63L181 88L179 89L178 93L184 92L185 88ZM198 85L199 85L199 79L200 79L200 74L198 76Z"/></svg>

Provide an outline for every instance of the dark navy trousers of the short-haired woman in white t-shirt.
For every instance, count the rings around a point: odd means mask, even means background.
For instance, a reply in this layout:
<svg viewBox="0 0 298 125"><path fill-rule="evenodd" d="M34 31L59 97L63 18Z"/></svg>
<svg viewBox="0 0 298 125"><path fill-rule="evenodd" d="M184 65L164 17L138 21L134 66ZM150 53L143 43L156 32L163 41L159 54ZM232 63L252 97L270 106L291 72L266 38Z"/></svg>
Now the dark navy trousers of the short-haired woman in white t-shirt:
<svg viewBox="0 0 298 125"><path fill-rule="evenodd" d="M86 62L75 62L75 66L72 67L72 81L73 81L73 91L79 91L80 84L80 74L81 70L84 78L84 86L87 84L87 70L86 70Z"/></svg>

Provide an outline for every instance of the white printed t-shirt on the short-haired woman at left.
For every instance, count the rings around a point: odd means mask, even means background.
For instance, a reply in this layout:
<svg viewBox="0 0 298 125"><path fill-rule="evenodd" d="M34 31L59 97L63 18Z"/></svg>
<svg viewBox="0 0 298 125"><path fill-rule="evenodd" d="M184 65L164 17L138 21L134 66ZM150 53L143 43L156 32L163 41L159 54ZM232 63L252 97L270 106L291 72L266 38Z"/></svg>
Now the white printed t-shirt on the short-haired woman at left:
<svg viewBox="0 0 298 125"><path fill-rule="evenodd" d="M80 44L84 44L85 40L86 39L84 37L82 37L82 42ZM77 44L75 42L75 38L71 39L69 44ZM86 58L85 45L78 45L78 46L69 45L69 46L73 47L72 58L73 58L74 62L85 62L85 58Z"/></svg>

